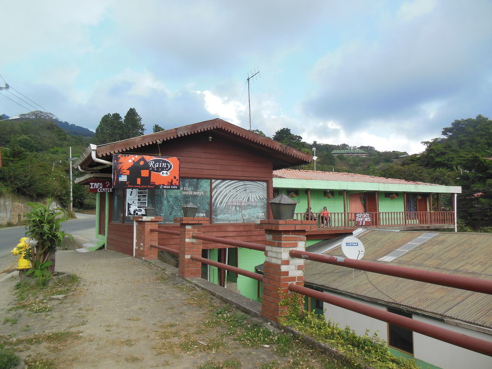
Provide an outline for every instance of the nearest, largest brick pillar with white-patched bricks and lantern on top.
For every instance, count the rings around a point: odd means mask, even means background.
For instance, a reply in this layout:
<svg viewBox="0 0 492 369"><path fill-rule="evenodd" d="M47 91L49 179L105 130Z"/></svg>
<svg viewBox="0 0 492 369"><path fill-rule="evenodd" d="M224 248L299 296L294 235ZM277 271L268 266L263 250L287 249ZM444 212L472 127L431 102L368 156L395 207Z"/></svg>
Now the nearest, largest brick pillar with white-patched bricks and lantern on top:
<svg viewBox="0 0 492 369"><path fill-rule="evenodd" d="M292 249L306 249L306 233L315 228L314 220L261 220L267 238L265 270L263 275L263 299L261 315L278 322L286 314L287 307L279 303L286 295L290 283L304 285L304 259L292 258Z"/></svg>

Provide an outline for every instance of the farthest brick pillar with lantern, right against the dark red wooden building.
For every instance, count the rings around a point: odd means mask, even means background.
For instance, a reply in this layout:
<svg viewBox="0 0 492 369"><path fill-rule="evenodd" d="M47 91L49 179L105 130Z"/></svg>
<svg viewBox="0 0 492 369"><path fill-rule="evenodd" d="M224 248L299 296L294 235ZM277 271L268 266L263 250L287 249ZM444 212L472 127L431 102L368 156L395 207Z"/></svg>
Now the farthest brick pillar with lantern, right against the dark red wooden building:
<svg viewBox="0 0 492 369"><path fill-rule="evenodd" d="M135 257L144 260L157 259L157 249L151 244L157 245L157 232L151 228L157 228L162 216L134 216L135 228Z"/></svg>

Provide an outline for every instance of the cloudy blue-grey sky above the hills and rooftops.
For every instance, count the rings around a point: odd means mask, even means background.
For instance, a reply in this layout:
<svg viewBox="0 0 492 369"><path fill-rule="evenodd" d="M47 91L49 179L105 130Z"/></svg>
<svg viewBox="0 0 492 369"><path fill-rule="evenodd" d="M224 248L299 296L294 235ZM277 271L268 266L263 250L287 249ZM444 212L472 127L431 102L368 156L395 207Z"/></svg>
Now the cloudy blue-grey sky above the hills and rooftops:
<svg viewBox="0 0 492 369"><path fill-rule="evenodd" d="M259 70L252 129L269 136L413 154L492 118L491 0L1 2L0 114L29 98L92 130L131 107L148 132L248 128Z"/></svg>

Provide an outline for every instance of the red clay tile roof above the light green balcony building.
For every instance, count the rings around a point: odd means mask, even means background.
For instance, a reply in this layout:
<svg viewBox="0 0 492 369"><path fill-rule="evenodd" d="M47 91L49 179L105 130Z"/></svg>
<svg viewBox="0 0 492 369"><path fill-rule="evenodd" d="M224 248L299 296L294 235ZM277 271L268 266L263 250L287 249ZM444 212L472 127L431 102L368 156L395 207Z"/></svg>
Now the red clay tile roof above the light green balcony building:
<svg viewBox="0 0 492 369"><path fill-rule="evenodd" d="M384 184L430 184L416 181L405 181L393 178L373 177L365 174L356 173L338 173L338 172L321 172L314 170L294 170L279 169L274 171L274 178L288 178L295 180L317 180L317 181L339 181L339 182L366 182L366 183L384 183Z"/></svg>

